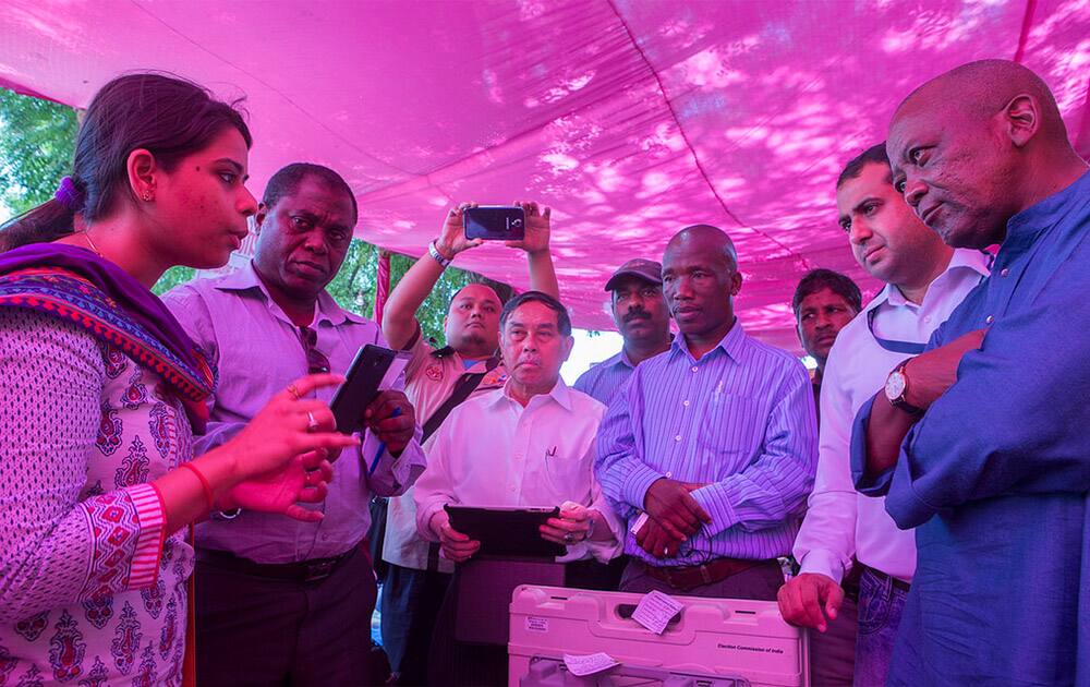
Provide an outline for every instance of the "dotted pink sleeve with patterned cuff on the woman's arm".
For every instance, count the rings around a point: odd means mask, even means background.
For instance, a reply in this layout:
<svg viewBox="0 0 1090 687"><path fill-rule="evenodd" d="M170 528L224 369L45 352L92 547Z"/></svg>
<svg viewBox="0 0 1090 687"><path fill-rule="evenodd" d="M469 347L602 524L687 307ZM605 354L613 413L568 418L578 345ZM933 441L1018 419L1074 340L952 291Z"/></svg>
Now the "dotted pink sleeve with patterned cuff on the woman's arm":
<svg viewBox="0 0 1090 687"><path fill-rule="evenodd" d="M0 624L155 583L166 534L152 484L88 496L106 387L96 340L0 309Z"/></svg>

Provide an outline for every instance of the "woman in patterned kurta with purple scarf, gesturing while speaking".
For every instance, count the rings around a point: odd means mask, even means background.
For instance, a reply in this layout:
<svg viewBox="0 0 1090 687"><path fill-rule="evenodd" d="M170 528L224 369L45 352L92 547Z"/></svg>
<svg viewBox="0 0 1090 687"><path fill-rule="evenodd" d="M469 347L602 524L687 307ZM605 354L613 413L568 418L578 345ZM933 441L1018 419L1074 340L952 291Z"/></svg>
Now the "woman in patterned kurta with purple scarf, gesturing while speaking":
<svg viewBox="0 0 1090 687"><path fill-rule="evenodd" d="M185 526L239 506L320 517L296 505L331 474L313 449L354 439L300 396L337 378L298 381L194 460L213 375L148 290L238 246L249 145L198 86L123 76L57 198L0 232L58 239L0 253L0 686L182 683Z"/></svg>

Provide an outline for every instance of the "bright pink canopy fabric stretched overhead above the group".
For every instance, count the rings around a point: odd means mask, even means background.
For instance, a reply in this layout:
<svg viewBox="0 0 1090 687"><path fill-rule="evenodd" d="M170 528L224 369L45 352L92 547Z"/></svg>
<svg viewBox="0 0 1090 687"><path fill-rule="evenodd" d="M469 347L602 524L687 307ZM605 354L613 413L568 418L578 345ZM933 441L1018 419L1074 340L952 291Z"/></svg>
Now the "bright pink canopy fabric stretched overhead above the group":
<svg viewBox="0 0 1090 687"><path fill-rule="evenodd" d="M836 225L843 164L900 98L959 63L1016 59L1090 153L1090 2L5 0L0 84L86 106L160 69L245 95L251 188L310 160L356 191L359 236L424 252L446 208L536 198L578 326L613 328L608 274L708 222L735 239L747 329L798 350L812 267L873 291ZM486 246L457 264L526 288Z"/></svg>

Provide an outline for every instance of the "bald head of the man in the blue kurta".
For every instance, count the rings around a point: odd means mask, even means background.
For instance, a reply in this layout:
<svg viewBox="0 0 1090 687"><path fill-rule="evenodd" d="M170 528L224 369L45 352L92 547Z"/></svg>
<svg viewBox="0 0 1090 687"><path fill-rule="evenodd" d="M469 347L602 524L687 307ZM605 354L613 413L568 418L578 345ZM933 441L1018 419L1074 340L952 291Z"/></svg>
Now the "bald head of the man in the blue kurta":
<svg viewBox="0 0 1090 687"><path fill-rule="evenodd" d="M1049 87L1005 60L965 64L912 92L886 150L894 186L955 248L1002 243L1010 217L1086 170Z"/></svg>

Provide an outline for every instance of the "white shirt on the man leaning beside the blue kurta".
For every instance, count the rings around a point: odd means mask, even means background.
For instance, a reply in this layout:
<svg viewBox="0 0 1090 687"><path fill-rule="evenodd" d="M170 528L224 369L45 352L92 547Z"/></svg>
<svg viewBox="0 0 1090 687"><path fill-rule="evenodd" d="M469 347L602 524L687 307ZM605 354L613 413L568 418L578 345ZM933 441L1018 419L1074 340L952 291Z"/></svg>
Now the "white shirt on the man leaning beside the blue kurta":
<svg viewBox="0 0 1090 687"><path fill-rule="evenodd" d="M989 256L957 250L922 303L912 303L886 285L863 312L836 337L821 388L818 475L795 557L802 572L820 572L840 581L855 556L886 575L911 581L916 571L916 534L900 530L885 511L884 498L856 492L849 443L859 408L881 389L889 372L909 353L887 350L877 338L925 343L931 333L988 275ZM869 324L871 311L873 332Z"/></svg>

